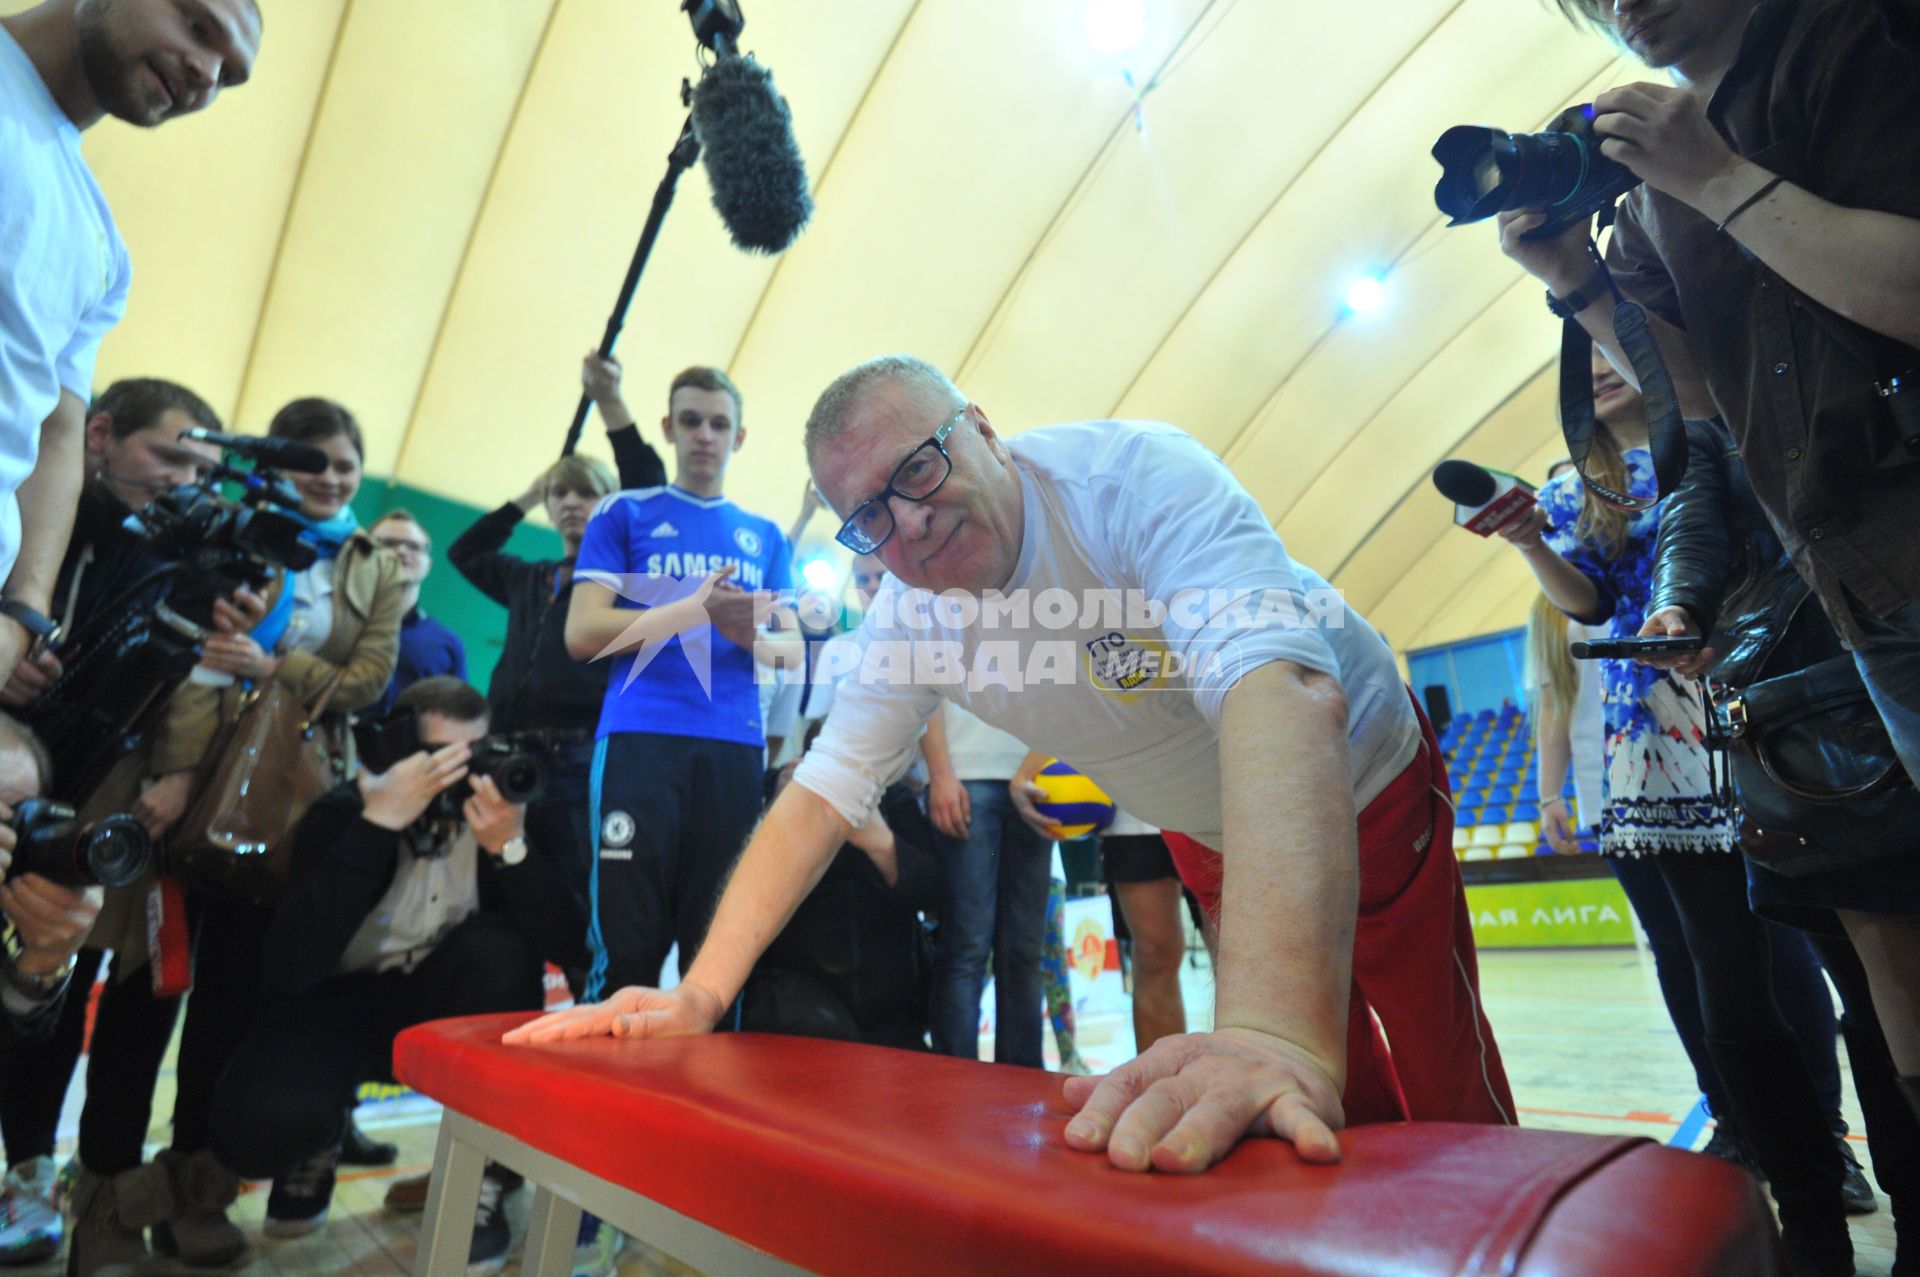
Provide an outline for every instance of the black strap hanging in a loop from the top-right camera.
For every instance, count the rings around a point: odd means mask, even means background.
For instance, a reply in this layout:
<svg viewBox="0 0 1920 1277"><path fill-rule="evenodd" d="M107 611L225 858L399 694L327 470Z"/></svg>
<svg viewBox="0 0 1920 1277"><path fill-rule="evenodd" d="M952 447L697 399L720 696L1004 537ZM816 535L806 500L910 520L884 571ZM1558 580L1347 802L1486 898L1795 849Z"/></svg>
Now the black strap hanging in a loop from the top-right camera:
<svg viewBox="0 0 1920 1277"><path fill-rule="evenodd" d="M1680 396L1674 394L1667 361L1653 342L1647 313L1620 296L1607 261L1592 244L1588 252L1607 280L1607 292L1613 294L1613 332L1640 380L1640 399L1647 415L1647 451L1653 453L1653 495L1615 492L1586 472L1586 459L1594 451L1594 338L1576 319L1561 321L1561 432L1567 436L1567 455L1572 457L1574 472L1588 492L1622 511L1645 511L1659 505L1661 495L1686 478L1688 449Z"/></svg>

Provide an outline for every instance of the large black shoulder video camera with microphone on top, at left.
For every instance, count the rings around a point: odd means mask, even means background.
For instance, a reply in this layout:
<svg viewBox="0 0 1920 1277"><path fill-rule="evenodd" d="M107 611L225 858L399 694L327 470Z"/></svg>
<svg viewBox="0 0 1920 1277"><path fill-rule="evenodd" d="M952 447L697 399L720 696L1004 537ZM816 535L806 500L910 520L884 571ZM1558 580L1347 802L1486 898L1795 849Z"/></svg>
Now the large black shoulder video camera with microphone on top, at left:
<svg viewBox="0 0 1920 1277"><path fill-rule="evenodd" d="M84 801L140 745L198 664L215 599L313 565L303 524L286 513L300 509L300 494L273 469L280 453L217 442L253 469L221 463L127 517L156 566L75 622L58 649L60 678L23 711L54 755L58 797Z"/></svg>

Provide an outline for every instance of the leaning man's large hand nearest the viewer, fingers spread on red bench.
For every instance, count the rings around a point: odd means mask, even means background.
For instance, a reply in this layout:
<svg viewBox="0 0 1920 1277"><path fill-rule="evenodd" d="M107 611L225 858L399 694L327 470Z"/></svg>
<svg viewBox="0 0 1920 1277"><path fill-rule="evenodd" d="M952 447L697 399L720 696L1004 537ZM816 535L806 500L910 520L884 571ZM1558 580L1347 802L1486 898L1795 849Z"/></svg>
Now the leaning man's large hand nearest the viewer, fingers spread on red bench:
<svg viewBox="0 0 1920 1277"><path fill-rule="evenodd" d="M1068 1146L1106 1150L1123 1171L1196 1173L1248 1135L1292 1141L1304 1162L1338 1162L1346 1123L1327 1066L1256 1029L1164 1037L1106 1077L1068 1077Z"/></svg>

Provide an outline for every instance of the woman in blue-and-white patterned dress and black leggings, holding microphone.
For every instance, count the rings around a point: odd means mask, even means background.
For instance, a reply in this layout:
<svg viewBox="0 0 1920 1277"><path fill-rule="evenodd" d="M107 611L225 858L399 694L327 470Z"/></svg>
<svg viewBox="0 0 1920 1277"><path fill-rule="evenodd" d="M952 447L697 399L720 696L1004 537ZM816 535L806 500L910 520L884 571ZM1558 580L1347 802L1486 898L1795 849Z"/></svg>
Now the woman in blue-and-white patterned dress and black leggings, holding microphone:
<svg viewBox="0 0 1920 1277"><path fill-rule="evenodd" d="M1594 355L1594 478L1653 490L1638 392ZM1574 472L1548 482L1540 507L1500 530L1540 590L1574 620L1632 636L1647 611L1659 507L1603 505ZM1603 855L1647 858L1680 916L1726 1110L1780 1204L1795 1273L1851 1271L1841 1185L1847 1166L1807 1060L1772 995L1772 945L1747 908L1734 812L1720 801L1697 691L1632 661L1601 666L1607 720Z"/></svg>

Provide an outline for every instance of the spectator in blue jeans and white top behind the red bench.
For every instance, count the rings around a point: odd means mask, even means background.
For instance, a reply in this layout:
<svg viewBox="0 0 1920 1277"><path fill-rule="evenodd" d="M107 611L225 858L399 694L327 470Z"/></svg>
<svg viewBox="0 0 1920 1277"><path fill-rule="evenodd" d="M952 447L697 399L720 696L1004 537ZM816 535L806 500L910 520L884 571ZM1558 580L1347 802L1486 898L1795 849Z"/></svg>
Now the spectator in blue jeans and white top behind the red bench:
<svg viewBox="0 0 1920 1277"><path fill-rule="evenodd" d="M1027 757L1016 737L958 705L927 722L927 814L947 866L933 945L933 1048L979 1058L979 991L993 954L993 1058L1041 1068L1041 945L1052 847L1008 785Z"/></svg>

